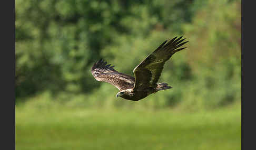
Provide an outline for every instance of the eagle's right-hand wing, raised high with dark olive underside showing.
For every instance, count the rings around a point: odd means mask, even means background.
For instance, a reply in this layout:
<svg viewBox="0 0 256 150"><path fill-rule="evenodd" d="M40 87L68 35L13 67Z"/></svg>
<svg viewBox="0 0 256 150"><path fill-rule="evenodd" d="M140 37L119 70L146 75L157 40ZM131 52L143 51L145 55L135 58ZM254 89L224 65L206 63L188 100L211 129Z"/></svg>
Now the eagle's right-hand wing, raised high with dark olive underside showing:
<svg viewBox="0 0 256 150"><path fill-rule="evenodd" d="M179 48L186 42L182 42L185 39L177 37L167 42L164 41L151 55L147 56L137 67L134 68L133 73L135 75L135 85L133 90L143 90L149 87L155 88L156 82L159 80L161 72L164 67L164 63L171 58L171 56L180 51L183 48ZM178 49L179 48L179 49Z"/></svg>

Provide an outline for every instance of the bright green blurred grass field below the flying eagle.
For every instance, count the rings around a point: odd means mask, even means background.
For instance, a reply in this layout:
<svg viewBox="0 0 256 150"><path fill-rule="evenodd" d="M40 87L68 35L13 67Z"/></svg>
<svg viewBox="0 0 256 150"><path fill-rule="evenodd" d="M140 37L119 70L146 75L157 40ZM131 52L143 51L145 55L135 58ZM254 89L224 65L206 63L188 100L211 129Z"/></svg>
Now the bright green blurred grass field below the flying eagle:
<svg viewBox="0 0 256 150"><path fill-rule="evenodd" d="M16 106L16 149L241 149L241 108L184 113Z"/></svg>

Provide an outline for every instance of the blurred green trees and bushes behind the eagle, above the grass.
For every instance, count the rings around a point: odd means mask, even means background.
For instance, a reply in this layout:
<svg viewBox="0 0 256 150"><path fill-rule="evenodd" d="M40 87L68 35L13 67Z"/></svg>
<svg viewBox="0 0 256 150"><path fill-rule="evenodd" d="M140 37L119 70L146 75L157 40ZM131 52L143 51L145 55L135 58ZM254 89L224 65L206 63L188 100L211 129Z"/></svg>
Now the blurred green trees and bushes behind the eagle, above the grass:
<svg viewBox="0 0 256 150"><path fill-rule="evenodd" d="M241 1L20 0L15 7L17 102L47 95L72 106L196 111L241 100ZM91 75L102 57L133 76L164 40L180 35L190 42L159 81L171 90L136 103L116 99L113 85Z"/></svg>

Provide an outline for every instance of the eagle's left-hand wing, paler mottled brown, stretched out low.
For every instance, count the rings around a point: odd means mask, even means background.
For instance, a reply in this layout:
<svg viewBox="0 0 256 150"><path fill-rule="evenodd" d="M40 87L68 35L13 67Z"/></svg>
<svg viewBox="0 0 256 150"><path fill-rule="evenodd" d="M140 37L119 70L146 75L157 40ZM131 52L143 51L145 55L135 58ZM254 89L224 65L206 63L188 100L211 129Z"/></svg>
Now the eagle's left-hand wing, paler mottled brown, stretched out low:
<svg viewBox="0 0 256 150"><path fill-rule="evenodd" d="M120 91L133 88L135 79L132 76L118 72L114 66L106 64L102 59L94 63L91 72L97 81L110 83Z"/></svg>

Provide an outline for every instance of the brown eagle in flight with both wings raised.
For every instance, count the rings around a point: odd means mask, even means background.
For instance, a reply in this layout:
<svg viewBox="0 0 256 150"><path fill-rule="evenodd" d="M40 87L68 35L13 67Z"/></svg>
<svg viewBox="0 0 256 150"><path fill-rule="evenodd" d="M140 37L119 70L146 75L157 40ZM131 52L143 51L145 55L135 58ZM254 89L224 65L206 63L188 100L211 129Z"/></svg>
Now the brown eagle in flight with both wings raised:
<svg viewBox="0 0 256 150"><path fill-rule="evenodd" d="M118 72L111 64L103 59L95 62L91 72L97 81L107 82L114 85L120 91L116 97L122 97L126 100L139 101L152 93L161 90L171 89L168 83L157 83L161 76L164 63L171 56L186 47L180 48L188 41L184 41L182 36L174 37L169 42L165 40L155 51L147 56L134 70L134 77ZM166 43L167 42L167 43Z"/></svg>

